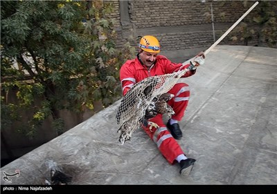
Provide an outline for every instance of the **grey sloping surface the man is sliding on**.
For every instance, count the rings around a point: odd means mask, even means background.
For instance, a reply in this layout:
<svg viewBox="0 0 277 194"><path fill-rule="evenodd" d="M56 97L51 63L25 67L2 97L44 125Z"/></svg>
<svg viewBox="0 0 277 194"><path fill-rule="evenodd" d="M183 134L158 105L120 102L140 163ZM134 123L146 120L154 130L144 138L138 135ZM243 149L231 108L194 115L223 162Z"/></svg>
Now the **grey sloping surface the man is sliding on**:
<svg viewBox="0 0 277 194"><path fill-rule="evenodd" d="M276 184L277 49L216 46L190 85L179 144L197 159L187 178L137 130L118 143L120 101L1 168L12 184L42 184L51 168L71 184ZM1 177L1 184L10 184Z"/></svg>

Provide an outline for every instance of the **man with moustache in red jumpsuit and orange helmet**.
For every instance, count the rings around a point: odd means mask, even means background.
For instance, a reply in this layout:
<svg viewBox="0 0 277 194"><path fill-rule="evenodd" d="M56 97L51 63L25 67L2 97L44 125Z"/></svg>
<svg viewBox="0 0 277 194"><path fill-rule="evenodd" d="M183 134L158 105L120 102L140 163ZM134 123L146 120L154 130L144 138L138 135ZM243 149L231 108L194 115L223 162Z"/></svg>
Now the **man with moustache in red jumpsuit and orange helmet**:
<svg viewBox="0 0 277 194"><path fill-rule="evenodd" d="M198 67L199 64L204 64L205 56L203 52L199 53L194 58L193 62L190 62L193 64L192 66L190 66L190 64L176 64L168 60L165 56L158 55L160 52L159 41L156 37L151 35L145 35L141 38L139 48L140 50L136 58L127 60L120 68L120 81L124 96L134 84L145 78L150 76L161 76L190 67L190 71L186 72L183 76L189 77L195 74L196 67ZM155 109L152 108L151 114L154 117L149 118L149 121L157 123L159 127L150 130L149 127L143 125L143 130L145 130L150 138L157 143L157 147L163 157L165 157L170 164L174 164L175 161L178 161L181 167L180 174L182 176L187 176L190 170L192 170L196 160L186 157L176 139L178 140L182 137L178 121L181 121L181 118L184 116L190 97L190 90L186 83L181 82L172 87L168 93L174 95L173 98L168 100L168 105L172 107L175 114L172 115L165 125L163 123L162 114L157 114Z"/></svg>

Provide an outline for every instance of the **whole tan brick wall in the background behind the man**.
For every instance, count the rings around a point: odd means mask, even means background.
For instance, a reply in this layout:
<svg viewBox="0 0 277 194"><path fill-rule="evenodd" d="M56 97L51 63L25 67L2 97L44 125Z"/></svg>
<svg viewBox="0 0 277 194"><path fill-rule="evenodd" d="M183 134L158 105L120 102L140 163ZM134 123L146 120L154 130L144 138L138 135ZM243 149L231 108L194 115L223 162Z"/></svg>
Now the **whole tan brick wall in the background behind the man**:
<svg viewBox="0 0 277 194"><path fill-rule="evenodd" d="M111 0L109 0L110 2ZM186 50L191 48L208 48L213 44L213 28L211 23L211 1L180 1L180 0L152 0L152 1L119 1L112 0L116 8L114 19L118 33L117 46L130 42L132 46L138 44L139 35L154 35L161 48L166 51ZM128 18L120 15L120 6L127 7ZM213 1L213 19L215 26L215 40L226 32L255 1ZM119 12L119 13L118 13ZM252 18L255 9L246 19ZM249 42L249 46L258 43L258 37ZM244 42L231 42L231 34L220 44L244 45Z"/></svg>

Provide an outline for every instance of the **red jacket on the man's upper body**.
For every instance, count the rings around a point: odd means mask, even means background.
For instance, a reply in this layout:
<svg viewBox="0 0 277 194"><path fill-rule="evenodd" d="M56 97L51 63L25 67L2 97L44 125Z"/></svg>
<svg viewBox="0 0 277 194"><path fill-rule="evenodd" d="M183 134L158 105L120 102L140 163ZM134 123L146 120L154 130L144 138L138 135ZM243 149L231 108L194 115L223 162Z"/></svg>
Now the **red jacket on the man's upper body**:
<svg viewBox="0 0 277 194"><path fill-rule="evenodd" d="M190 66L190 64L181 64L174 63L168 60L163 55L158 55L156 58L156 62L154 65L148 70L144 64L141 64L139 58L135 58L134 60L127 60L125 64L120 68L120 81L123 89L123 96L127 93L127 91L137 82L148 78L150 76L161 76L168 73L173 73L175 71L179 71L182 69L186 69ZM183 78L193 76L195 74L195 70L188 71L185 73Z"/></svg>

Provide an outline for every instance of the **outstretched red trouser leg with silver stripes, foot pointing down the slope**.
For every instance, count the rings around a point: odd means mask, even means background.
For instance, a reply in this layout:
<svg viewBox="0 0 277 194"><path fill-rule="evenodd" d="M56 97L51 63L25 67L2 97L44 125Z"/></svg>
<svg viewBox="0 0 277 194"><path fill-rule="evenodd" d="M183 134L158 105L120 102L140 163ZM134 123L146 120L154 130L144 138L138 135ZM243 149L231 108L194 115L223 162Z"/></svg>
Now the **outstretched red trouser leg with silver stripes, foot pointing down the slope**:
<svg viewBox="0 0 277 194"><path fill-rule="evenodd" d="M180 145L167 130L166 125L163 124L161 114L151 118L149 121L157 123L160 127L158 129L153 127L152 130L150 130L148 126L143 127L143 130L157 144L163 157L165 157L170 164L173 164L177 156L184 154L183 150L181 150Z"/></svg>

